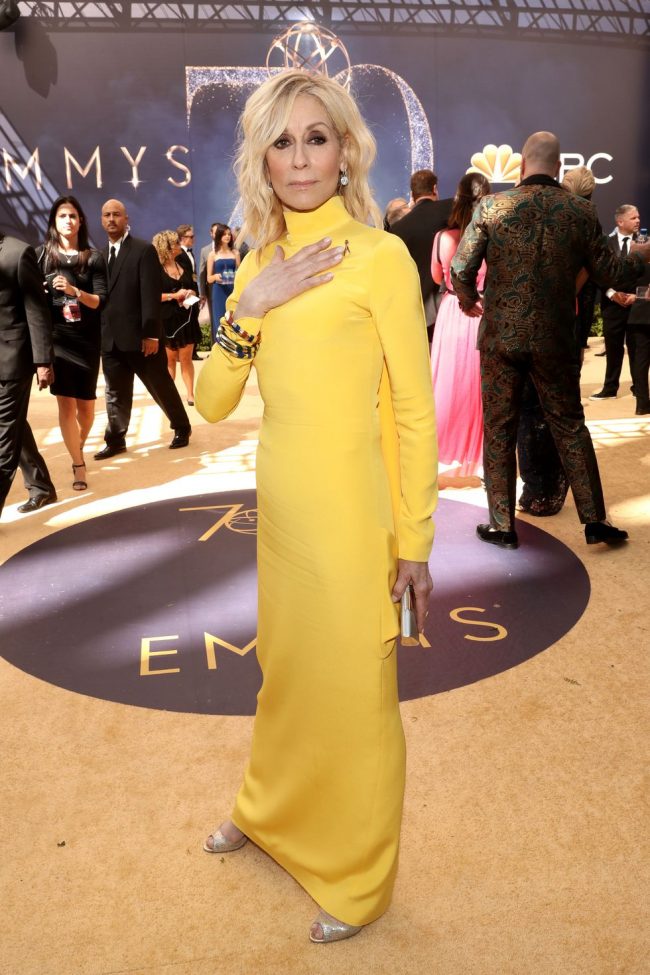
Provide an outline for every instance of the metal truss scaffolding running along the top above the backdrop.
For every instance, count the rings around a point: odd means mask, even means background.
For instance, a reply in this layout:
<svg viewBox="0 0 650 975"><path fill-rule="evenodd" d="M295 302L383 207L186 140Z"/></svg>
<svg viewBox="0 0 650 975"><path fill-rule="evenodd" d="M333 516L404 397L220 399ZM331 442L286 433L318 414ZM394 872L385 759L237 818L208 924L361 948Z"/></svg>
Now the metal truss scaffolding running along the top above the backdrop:
<svg viewBox="0 0 650 975"><path fill-rule="evenodd" d="M277 32L311 20L330 30L365 34L465 34L650 41L650 0L321 0L290 3L118 3L22 0L23 16L50 31Z"/></svg>

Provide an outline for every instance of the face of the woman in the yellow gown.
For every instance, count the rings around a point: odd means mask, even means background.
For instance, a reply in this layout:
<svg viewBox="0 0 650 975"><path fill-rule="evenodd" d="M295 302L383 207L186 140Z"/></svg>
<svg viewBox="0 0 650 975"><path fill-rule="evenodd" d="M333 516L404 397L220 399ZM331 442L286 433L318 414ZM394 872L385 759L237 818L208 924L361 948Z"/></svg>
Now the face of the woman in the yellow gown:
<svg viewBox="0 0 650 975"><path fill-rule="evenodd" d="M287 127L265 160L273 191L287 210L316 210L336 194L345 154L318 98L296 98Z"/></svg>

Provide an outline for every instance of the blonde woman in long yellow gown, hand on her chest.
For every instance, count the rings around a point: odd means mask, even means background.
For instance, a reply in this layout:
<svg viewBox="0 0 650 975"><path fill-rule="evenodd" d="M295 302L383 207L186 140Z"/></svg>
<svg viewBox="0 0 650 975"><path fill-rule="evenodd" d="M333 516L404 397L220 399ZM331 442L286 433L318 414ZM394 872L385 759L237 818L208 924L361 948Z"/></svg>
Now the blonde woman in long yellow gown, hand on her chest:
<svg viewBox="0 0 650 975"><path fill-rule="evenodd" d="M237 406L251 365L263 674L232 818L204 848L252 840L321 908L312 941L356 934L397 870L404 735L397 603L432 588L436 440L415 265L367 184L374 141L343 87L289 71L248 100L237 170L243 261L196 407Z"/></svg>

